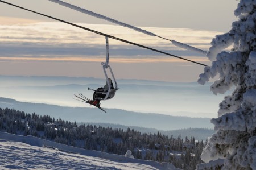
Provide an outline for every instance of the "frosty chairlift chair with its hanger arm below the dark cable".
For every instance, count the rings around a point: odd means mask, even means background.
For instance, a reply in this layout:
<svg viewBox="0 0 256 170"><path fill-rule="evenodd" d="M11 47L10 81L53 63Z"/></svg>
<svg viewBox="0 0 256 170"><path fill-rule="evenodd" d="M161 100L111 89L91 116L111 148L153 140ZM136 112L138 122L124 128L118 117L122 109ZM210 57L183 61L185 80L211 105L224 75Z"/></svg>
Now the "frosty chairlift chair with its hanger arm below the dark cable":
<svg viewBox="0 0 256 170"><path fill-rule="evenodd" d="M94 98L98 100L112 99L115 96L115 92L118 90L117 81L115 80L114 73L112 71L112 68L109 65L109 39L108 39L108 36L106 36L105 38L106 38L106 62L102 62L101 65L106 77L106 83L108 84L108 90L106 89L94 90L94 89L88 88L88 90L93 90L96 92L94 94ZM107 69L109 69L112 76L112 81L114 81L115 83L114 88L111 88L110 86L110 81L109 81L110 77L107 74L107 71L106 71Z"/></svg>

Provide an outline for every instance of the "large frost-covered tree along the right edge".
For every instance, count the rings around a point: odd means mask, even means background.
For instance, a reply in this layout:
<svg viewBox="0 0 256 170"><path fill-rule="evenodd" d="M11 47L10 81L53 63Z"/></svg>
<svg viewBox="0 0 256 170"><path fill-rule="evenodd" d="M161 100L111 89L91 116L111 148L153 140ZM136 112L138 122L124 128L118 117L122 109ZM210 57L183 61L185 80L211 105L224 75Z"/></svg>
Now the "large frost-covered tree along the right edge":
<svg viewBox="0 0 256 170"><path fill-rule="evenodd" d="M211 122L216 134L209 139L197 169L256 169L256 0L240 0L232 29L212 40L199 83L217 75L214 94L233 90L220 103L218 118ZM231 52L224 52L233 45Z"/></svg>

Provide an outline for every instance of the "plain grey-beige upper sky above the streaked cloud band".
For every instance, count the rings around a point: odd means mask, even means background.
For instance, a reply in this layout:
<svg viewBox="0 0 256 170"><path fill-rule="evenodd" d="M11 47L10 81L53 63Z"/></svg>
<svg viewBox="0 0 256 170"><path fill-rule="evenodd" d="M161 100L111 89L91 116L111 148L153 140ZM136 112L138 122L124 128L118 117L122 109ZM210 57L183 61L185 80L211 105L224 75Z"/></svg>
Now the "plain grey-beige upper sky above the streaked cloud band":
<svg viewBox="0 0 256 170"><path fill-rule="evenodd" d="M47 0L36 2L7 0L7 2L72 22L109 24L109 22L74 12ZM233 11L238 3L236 0L65 0L65 2L138 27L192 28L211 31L229 31L231 23L236 19ZM1 16L51 20L7 5L1 5Z"/></svg>

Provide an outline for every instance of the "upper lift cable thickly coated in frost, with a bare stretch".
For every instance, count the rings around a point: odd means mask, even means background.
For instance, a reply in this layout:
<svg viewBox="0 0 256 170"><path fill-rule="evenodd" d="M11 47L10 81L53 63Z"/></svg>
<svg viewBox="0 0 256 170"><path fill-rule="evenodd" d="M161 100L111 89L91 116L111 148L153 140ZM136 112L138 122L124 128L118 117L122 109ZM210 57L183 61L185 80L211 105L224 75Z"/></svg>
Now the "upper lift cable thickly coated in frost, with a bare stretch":
<svg viewBox="0 0 256 170"><path fill-rule="evenodd" d="M60 1L60 0L48 0L48 1L57 3L59 5L68 7L69 9L73 9L73 10L79 11L79 12L84 13L84 14L88 14L88 15L94 16L96 18L107 20L109 22L118 24L119 26L127 27L127 28L133 29L135 31L142 32L143 34L147 34L147 35L150 35L150 36L156 36L158 38L161 38L161 39L164 39L164 40L168 40L168 41L170 41L172 44L174 44L177 47L180 47L180 48L183 48L183 49L187 49L187 50L191 50L191 51L196 51L196 52L199 52L199 53L203 53L204 55L207 54L207 51L204 51L202 49L195 48L195 47L192 47L191 45L180 43L180 42L177 42L175 40L163 38L162 36L158 36L158 35L154 34L153 32L142 30L141 28L131 26L130 24L126 24L126 23L120 22L118 20L109 18L108 16L104 16L104 15L101 15L101 14L94 13L93 11L89 11L89 10L83 9L83 8L81 8L79 6L75 6L75 5L72 5L70 3Z"/></svg>

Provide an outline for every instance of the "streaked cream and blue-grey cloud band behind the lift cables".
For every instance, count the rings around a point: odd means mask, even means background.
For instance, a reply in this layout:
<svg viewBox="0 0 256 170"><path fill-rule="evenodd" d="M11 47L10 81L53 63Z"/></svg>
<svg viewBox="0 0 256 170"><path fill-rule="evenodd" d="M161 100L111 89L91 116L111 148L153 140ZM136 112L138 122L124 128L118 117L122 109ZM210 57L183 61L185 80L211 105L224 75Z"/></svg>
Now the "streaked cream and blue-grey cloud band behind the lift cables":
<svg viewBox="0 0 256 170"><path fill-rule="evenodd" d="M146 45L181 57L204 57L195 52L177 48L167 40L141 34L121 26L80 24L134 43ZM145 30L193 45L207 51L209 42L220 32L199 31L184 28L146 28ZM1 59L46 61L98 61L105 57L105 37L59 22L28 22L0 26ZM109 39L110 57L116 62L176 62L176 59L148 51L134 45ZM29 56L29 57L27 57ZM72 57L73 56L73 57ZM197 56L197 57L196 57Z"/></svg>

